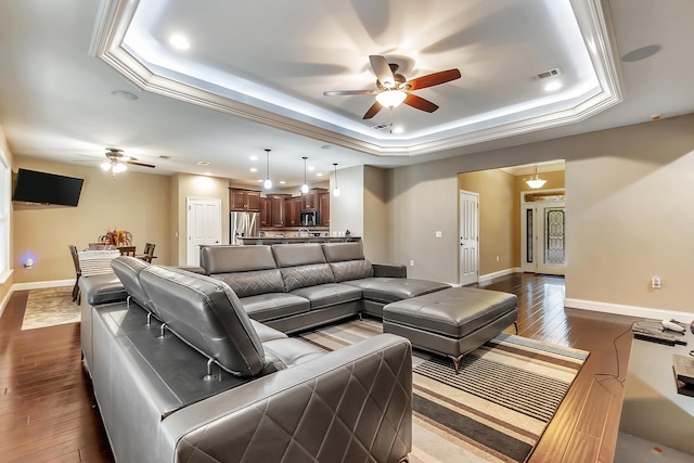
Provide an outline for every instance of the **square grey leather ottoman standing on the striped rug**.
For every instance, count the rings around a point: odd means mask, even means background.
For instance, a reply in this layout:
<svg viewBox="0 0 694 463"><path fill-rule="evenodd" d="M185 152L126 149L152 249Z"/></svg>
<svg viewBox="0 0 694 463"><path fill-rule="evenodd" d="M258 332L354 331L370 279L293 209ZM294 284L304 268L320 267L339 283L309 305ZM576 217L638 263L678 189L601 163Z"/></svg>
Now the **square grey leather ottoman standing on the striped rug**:
<svg viewBox="0 0 694 463"><path fill-rule="evenodd" d="M473 287L451 287L388 304L383 331L407 337L412 346L449 357L455 373L460 359L509 325L516 327L514 294Z"/></svg>

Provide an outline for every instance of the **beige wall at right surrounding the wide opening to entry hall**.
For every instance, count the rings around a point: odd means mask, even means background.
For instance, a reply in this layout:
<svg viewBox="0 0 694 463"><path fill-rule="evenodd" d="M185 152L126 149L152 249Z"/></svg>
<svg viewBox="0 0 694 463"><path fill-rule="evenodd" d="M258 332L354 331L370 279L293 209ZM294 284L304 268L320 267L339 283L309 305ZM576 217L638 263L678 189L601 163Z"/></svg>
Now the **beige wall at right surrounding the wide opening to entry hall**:
<svg viewBox="0 0 694 463"><path fill-rule="evenodd" d="M684 283L693 150L687 115L395 169L394 260L414 259L416 278L458 281L458 173L564 158L567 297L694 311ZM655 273L664 279L657 292L647 286Z"/></svg>

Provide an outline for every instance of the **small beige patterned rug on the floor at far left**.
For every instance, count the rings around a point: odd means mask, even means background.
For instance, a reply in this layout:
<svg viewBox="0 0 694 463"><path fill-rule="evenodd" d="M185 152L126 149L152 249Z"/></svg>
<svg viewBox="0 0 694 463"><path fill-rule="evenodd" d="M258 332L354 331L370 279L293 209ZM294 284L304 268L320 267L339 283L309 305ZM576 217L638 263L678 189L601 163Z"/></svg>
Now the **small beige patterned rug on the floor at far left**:
<svg viewBox="0 0 694 463"><path fill-rule="evenodd" d="M22 331L76 323L79 319L79 306L73 301L73 286L30 290Z"/></svg>

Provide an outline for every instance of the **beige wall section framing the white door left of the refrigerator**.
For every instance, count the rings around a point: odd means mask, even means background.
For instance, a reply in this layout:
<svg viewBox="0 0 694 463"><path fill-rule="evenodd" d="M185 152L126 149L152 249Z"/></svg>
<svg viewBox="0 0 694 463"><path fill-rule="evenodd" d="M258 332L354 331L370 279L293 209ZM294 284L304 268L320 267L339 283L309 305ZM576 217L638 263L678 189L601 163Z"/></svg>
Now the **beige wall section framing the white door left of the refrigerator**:
<svg viewBox="0 0 694 463"><path fill-rule="evenodd" d="M176 173L171 177L170 235L175 252L174 265L187 265L187 198L221 200L221 241L229 244L229 180L220 177Z"/></svg>

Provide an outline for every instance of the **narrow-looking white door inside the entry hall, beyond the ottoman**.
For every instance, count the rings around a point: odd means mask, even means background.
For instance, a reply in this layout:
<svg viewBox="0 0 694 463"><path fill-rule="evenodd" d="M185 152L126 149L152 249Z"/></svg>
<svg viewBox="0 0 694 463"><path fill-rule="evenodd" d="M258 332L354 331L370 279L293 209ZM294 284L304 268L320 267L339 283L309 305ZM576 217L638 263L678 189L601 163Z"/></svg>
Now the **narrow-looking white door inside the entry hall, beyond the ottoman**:
<svg viewBox="0 0 694 463"><path fill-rule="evenodd" d="M479 278L479 194L460 191L460 270L461 285Z"/></svg>

